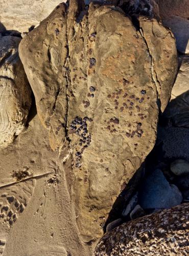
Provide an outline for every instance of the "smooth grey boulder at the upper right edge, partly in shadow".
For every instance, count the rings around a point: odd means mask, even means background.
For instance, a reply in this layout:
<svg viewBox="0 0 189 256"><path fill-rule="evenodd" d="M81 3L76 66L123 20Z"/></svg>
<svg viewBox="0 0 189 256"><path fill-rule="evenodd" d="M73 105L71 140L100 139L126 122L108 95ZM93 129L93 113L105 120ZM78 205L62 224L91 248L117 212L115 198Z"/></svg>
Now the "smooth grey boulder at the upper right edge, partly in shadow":
<svg viewBox="0 0 189 256"><path fill-rule="evenodd" d="M177 50L189 53L189 20L179 16L163 19L163 24L168 26L176 38Z"/></svg>

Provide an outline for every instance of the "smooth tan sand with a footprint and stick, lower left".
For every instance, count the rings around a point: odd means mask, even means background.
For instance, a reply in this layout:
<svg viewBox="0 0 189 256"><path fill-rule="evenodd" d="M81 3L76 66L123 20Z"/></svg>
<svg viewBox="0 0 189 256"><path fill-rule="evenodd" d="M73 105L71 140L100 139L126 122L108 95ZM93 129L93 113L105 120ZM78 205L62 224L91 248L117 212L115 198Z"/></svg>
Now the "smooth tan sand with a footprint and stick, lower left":
<svg viewBox="0 0 189 256"><path fill-rule="evenodd" d="M76 216L58 154L38 116L0 152L0 255L92 255Z"/></svg>

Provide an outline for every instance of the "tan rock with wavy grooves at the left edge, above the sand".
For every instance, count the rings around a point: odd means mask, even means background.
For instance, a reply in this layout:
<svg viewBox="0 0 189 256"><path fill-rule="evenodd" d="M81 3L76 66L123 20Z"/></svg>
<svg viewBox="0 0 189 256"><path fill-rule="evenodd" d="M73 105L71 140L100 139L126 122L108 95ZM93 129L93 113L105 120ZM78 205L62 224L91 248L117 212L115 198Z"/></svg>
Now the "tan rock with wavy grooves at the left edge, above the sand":
<svg viewBox="0 0 189 256"><path fill-rule="evenodd" d="M18 56L19 37L0 37L0 148L7 147L25 127L31 89Z"/></svg>

